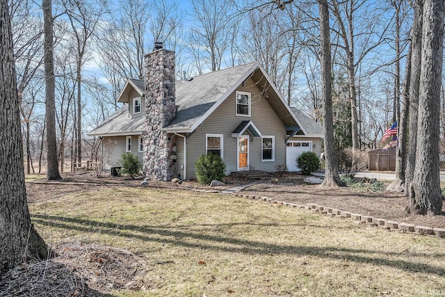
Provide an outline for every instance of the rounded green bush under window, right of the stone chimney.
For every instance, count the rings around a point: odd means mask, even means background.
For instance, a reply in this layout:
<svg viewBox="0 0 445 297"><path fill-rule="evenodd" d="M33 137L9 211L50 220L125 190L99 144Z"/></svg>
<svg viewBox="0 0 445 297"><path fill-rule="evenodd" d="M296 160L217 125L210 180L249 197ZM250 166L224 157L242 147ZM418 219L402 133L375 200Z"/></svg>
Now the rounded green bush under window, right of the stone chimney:
<svg viewBox="0 0 445 297"><path fill-rule="evenodd" d="M225 177L225 163L216 154L203 154L195 166L197 182L200 184L210 184L213 179L221 181Z"/></svg>

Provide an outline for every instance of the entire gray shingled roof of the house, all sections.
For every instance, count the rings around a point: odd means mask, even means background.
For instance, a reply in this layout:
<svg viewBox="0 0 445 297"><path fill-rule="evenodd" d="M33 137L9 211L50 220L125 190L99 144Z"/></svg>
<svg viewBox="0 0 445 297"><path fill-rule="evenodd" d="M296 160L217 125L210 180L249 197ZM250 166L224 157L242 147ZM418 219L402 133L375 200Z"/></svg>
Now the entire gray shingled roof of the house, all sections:
<svg viewBox="0 0 445 297"><path fill-rule="evenodd" d="M251 74L254 74L260 68L257 63L250 63L202 74L187 80L176 81L175 104L177 105L177 113L176 117L164 129L179 132L181 130L193 131L229 94L234 92L243 80L250 77ZM259 76L263 78L265 76L262 68ZM125 88L128 85L131 88L135 88L140 95L145 94L144 81L129 79L125 84ZM123 93L124 90L122 90L121 95ZM279 92L276 91L275 93ZM280 97L278 94L277 96ZM295 120L292 120L292 118L296 118L296 122L302 131L305 132L305 135L323 137L323 127L312 120L312 118L309 118L305 113L295 108L292 108L289 112L286 110L280 110L281 114L279 116L282 120L295 123ZM289 118L290 112L295 117L291 116ZM134 135L140 134L142 131L145 131L145 117L130 118L128 116L128 104L124 104L121 109L92 130L90 135Z"/></svg>

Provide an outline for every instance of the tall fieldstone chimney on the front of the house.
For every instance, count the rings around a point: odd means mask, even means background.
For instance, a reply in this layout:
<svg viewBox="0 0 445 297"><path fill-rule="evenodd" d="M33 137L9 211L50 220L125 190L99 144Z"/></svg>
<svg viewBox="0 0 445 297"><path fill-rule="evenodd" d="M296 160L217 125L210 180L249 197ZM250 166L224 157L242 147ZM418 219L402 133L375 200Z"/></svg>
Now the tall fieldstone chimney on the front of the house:
<svg viewBox="0 0 445 297"><path fill-rule="evenodd" d="M176 171L176 136L161 131L175 118L175 52L156 42L145 55L145 122L143 172L170 181Z"/></svg>

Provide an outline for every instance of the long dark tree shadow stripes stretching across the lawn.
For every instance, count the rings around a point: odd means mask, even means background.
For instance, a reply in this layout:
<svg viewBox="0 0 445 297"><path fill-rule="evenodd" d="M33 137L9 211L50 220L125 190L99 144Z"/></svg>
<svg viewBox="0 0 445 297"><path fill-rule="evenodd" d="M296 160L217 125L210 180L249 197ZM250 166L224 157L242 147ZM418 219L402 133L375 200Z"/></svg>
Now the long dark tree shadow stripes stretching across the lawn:
<svg viewBox="0 0 445 297"><path fill-rule="evenodd" d="M445 275L445 268L410 262L403 259L385 259L379 255L399 256L400 252L389 252L380 250L318 247L318 246L289 246L265 243L262 241L252 241L237 239L223 234L211 235L203 232L191 232L175 230L175 227L160 227L147 225L120 225L115 223L99 222L97 220L83 220L79 218L67 218L63 216L44 216L33 214L35 222L42 225L50 225L65 230L76 230L86 233L110 234L129 239L138 239L147 242L170 243L175 246L187 248L200 248L203 250L215 250L220 252L236 252L247 255L273 255L287 254L298 256L314 256L325 259L342 259L360 264L372 264L375 266L389 266L398 268L410 273L428 273L434 275ZM227 224L225 224L227 225ZM255 225L254 223L236 223L236 225ZM94 227L92 227L94 226ZM154 237L159 236L159 237ZM191 240L194 242L191 242ZM229 246L224 246L225 243ZM377 254L377 255L375 255ZM375 256L373 256L375 255ZM422 256L421 254L417 254ZM441 258L445 254L432 254L423 256ZM444 259L445 260L445 259Z"/></svg>

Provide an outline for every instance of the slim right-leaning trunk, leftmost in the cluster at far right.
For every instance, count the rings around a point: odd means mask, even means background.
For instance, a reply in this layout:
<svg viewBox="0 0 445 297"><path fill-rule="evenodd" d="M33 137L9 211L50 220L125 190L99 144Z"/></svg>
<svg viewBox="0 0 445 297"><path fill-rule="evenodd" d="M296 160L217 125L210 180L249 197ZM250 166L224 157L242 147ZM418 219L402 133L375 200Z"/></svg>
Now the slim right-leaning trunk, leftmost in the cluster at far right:
<svg viewBox="0 0 445 297"><path fill-rule="evenodd" d="M396 157L396 177L405 182L405 169L407 159L408 117L410 115L410 77L411 77L412 48L408 49L405 67L405 79L403 79L402 110L398 122L398 145Z"/></svg>

